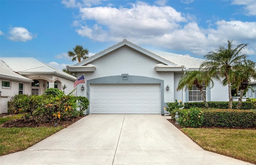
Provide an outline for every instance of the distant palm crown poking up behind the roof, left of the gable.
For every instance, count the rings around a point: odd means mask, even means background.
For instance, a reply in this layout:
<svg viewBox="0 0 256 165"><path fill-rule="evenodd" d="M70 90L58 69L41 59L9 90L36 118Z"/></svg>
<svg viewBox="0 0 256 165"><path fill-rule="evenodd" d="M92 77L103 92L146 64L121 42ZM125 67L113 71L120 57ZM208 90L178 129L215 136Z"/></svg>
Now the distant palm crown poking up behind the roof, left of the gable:
<svg viewBox="0 0 256 165"><path fill-rule="evenodd" d="M72 61L76 61L76 59L78 60L78 63L81 62L81 59L86 59L88 58L89 51L88 49L84 49L83 46L81 45L76 45L75 48L73 48L73 51L68 51L68 56L69 57L73 57Z"/></svg>

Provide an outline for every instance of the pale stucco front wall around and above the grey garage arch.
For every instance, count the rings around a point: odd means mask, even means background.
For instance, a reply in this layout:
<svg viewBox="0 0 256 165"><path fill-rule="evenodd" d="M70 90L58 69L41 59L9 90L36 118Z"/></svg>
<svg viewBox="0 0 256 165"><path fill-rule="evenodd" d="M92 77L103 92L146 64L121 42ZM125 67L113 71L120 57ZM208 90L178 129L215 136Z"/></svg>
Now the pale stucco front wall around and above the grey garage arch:
<svg viewBox="0 0 256 165"><path fill-rule="evenodd" d="M91 73L84 73L84 75L86 81L99 77L121 76L122 74L160 79L164 81L164 102L173 102L174 93L176 93L176 88L174 89L174 73L156 72L154 67L159 63L159 61L151 57L147 57L124 46L92 61L91 64L96 66L96 70ZM81 77L83 73L77 73L77 75ZM104 84L104 82L102 82L102 84ZM168 91L166 90L167 85L170 87ZM81 86L82 84L78 84L77 94L87 96L86 89L82 91Z"/></svg>

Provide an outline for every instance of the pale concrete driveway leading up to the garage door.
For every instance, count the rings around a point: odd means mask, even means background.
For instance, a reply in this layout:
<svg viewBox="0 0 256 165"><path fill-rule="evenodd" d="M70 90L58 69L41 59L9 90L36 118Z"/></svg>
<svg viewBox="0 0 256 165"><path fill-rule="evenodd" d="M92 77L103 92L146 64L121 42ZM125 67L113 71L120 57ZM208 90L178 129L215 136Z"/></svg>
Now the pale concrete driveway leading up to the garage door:
<svg viewBox="0 0 256 165"><path fill-rule="evenodd" d="M248 165L204 151L161 115L90 114L1 165Z"/></svg>

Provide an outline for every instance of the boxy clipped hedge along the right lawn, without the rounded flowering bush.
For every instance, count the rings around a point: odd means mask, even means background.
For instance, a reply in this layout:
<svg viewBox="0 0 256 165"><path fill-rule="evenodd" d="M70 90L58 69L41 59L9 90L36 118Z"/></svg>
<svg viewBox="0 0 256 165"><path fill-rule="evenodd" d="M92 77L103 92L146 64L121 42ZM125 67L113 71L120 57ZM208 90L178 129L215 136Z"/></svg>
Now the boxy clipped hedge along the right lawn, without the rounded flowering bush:
<svg viewBox="0 0 256 165"><path fill-rule="evenodd" d="M206 127L256 127L256 110L204 110Z"/></svg>

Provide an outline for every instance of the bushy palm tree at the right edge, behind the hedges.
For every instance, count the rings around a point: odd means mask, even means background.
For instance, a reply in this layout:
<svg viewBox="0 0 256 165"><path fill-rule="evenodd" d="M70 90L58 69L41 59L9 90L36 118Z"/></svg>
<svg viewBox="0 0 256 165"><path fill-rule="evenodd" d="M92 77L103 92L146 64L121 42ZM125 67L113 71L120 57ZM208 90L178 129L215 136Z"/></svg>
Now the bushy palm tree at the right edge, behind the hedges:
<svg viewBox="0 0 256 165"><path fill-rule="evenodd" d="M256 78L255 63L251 60L244 60L244 63L238 66L237 70L234 73L235 79L234 82L232 83L232 86L236 88L237 92L241 90L241 94L238 99L238 104L236 106L237 109L240 109L242 105L242 96L244 94L244 91L246 91L249 87L248 85L250 83L250 79Z"/></svg>

